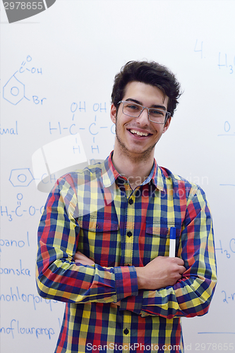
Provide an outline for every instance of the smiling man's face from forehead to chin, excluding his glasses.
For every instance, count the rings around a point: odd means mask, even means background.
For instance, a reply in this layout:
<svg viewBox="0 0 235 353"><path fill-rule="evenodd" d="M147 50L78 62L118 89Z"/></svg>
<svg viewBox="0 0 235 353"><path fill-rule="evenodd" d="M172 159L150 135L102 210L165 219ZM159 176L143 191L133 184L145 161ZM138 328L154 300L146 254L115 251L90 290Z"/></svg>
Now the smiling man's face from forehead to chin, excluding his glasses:
<svg viewBox="0 0 235 353"><path fill-rule="evenodd" d="M168 97L164 97L159 88L142 82L133 81L126 85L126 92L122 100L133 100L144 107L162 107L167 110ZM111 119L116 124L115 148L130 157L153 157L154 148L167 131L171 118L166 124L156 124L148 119L147 109L144 109L138 118L127 116L122 112L123 104L116 107L112 104Z"/></svg>

